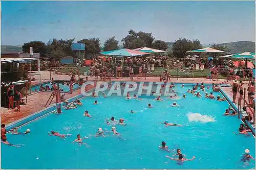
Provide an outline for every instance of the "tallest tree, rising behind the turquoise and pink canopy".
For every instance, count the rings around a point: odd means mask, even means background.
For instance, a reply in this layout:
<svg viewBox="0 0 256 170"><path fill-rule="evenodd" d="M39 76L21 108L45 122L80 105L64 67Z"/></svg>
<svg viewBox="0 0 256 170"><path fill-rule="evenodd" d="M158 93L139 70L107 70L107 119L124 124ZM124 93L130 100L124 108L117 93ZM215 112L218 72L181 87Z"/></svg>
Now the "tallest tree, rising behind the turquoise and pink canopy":
<svg viewBox="0 0 256 170"><path fill-rule="evenodd" d="M145 33L142 31L136 33L134 30L130 30L128 33L129 34L121 40L124 48L134 49L143 46L152 47L152 43L155 39L152 36L152 33Z"/></svg>

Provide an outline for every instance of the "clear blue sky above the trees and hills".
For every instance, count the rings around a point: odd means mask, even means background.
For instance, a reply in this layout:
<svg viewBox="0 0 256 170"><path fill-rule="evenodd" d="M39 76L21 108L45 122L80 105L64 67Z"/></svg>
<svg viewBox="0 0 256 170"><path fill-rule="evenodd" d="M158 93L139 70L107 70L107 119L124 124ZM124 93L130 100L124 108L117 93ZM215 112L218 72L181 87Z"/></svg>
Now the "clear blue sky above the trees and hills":
<svg viewBox="0 0 256 170"><path fill-rule="evenodd" d="M255 40L254 2L2 1L2 44L49 39L121 39L130 29L155 40L203 44Z"/></svg>

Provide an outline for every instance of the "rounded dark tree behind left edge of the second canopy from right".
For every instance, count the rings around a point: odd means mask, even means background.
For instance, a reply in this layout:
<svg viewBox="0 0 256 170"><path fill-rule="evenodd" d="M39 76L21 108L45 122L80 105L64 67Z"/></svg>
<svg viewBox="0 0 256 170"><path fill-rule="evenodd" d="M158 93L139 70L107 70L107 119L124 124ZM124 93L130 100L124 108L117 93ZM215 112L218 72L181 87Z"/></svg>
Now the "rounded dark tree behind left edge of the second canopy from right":
<svg viewBox="0 0 256 170"><path fill-rule="evenodd" d="M172 50L174 56L182 58L185 56L187 51L199 49L202 47L203 46L199 40L190 41L186 38L179 38L174 42Z"/></svg>

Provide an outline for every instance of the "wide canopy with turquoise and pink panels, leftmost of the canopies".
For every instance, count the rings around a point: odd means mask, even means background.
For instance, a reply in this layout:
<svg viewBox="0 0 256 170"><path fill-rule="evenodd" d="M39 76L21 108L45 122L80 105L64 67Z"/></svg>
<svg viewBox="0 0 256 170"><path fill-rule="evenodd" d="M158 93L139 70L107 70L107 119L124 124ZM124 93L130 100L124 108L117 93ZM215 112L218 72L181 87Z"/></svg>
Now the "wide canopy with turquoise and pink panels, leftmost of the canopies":
<svg viewBox="0 0 256 170"><path fill-rule="evenodd" d="M108 51L108 52L101 52L101 54L109 55L109 56L116 56L116 57L122 57L122 56L134 57L134 56L146 55L148 53L140 52L137 50L130 50L127 48L122 48L122 49L112 50L112 51Z"/></svg>

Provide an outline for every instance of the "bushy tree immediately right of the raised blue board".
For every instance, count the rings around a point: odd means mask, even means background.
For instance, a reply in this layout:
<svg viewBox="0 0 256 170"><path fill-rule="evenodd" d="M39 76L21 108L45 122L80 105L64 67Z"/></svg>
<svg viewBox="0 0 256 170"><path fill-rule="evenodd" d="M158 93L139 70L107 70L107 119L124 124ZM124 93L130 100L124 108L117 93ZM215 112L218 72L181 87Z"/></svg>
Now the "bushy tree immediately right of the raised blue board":
<svg viewBox="0 0 256 170"><path fill-rule="evenodd" d="M85 54L95 55L100 53L100 39L99 38L89 38L89 39L82 39L77 41L78 43L86 44L86 51Z"/></svg>

